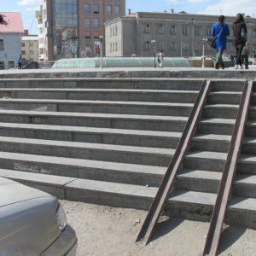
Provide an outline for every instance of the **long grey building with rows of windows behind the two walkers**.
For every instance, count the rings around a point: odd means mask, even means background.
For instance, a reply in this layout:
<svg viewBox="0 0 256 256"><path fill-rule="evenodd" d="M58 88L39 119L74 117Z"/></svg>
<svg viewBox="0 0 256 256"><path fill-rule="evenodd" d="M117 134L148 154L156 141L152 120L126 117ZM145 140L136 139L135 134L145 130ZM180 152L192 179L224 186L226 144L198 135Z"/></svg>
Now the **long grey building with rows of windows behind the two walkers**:
<svg viewBox="0 0 256 256"><path fill-rule="evenodd" d="M226 17L230 37L226 53L234 55L231 24L235 17ZM256 19L246 17L248 40L256 50ZM144 13L116 18L105 23L107 56L151 56L164 49L165 55L201 56L203 38L212 39L212 25L217 15L191 15L186 13ZM215 49L205 44L205 54L214 55Z"/></svg>

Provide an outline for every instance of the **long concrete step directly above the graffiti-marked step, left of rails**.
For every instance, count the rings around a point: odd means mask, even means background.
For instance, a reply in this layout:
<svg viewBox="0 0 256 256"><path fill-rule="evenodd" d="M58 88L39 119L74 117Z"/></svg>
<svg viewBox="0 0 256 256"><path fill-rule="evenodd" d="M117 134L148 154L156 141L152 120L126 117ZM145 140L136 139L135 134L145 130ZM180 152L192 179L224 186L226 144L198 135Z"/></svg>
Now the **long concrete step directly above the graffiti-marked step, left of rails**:
<svg viewBox="0 0 256 256"><path fill-rule="evenodd" d="M148 166L168 166L174 154L174 149L171 148L74 143L20 137L0 137L0 151Z"/></svg>

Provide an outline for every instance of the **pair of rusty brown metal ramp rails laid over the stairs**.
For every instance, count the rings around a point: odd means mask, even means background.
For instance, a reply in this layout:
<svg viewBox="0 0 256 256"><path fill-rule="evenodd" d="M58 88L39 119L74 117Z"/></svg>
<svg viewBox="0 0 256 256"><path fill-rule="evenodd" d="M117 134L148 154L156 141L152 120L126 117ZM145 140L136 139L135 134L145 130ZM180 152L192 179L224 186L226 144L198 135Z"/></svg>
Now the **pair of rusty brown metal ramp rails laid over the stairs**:
<svg viewBox="0 0 256 256"><path fill-rule="evenodd" d="M158 189L154 201L143 222L142 229L140 230L136 241L144 240L147 244L153 234L154 226L160 217L160 213L164 207L166 198L172 190L177 172L183 164L184 155L189 148L189 143L193 134L195 133L198 121L201 118L202 108L207 101L207 95L211 90L211 87L210 80L204 81L201 86L201 90L195 100L194 108L189 115L189 120L183 131L183 135L178 143L175 154L173 155L170 165L167 168L166 175L160 184L160 188ZM212 212L211 223L207 233L207 240L205 243L203 256L213 256L218 252L218 244L224 223L226 207L230 199L232 183L234 177L236 176L236 166L240 156L241 143L247 121L252 91L253 81L246 81L242 90L241 101L236 117L236 124L232 133L230 148L224 164L223 175L219 184L218 195Z"/></svg>

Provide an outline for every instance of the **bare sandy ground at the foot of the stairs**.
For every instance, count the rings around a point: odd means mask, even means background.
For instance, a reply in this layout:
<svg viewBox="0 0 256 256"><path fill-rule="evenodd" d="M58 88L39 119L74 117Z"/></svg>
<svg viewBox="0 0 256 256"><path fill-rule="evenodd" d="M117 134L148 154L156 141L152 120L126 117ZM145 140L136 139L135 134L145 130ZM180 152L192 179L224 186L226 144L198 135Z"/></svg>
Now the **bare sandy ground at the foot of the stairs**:
<svg viewBox="0 0 256 256"><path fill-rule="evenodd" d="M161 217L151 242L135 242L145 211L61 201L77 232L77 256L199 256L207 223ZM256 256L256 230L225 226L218 255Z"/></svg>

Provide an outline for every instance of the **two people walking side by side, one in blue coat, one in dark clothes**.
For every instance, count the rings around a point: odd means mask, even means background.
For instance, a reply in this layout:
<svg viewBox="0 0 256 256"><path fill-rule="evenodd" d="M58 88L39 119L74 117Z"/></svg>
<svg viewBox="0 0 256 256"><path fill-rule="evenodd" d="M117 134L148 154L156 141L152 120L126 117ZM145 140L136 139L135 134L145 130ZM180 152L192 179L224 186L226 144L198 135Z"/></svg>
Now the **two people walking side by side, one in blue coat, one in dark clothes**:
<svg viewBox="0 0 256 256"><path fill-rule="evenodd" d="M228 24L224 22L224 15L218 17L218 22L212 26L212 37L216 38L215 49L218 50L217 60L215 63L215 68L219 67L224 69L224 61L222 59L224 49L226 49L227 36L230 35L230 28ZM247 26L244 22L243 15L237 14L232 24L233 34L234 34L234 46L236 49L236 65L235 68L243 68L242 66L242 49L247 43ZM248 45L248 44L247 44ZM246 55L247 53L245 53ZM247 60L247 59L246 59ZM247 64L246 64L247 67Z"/></svg>

